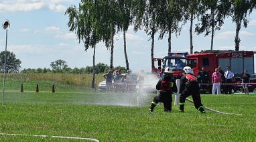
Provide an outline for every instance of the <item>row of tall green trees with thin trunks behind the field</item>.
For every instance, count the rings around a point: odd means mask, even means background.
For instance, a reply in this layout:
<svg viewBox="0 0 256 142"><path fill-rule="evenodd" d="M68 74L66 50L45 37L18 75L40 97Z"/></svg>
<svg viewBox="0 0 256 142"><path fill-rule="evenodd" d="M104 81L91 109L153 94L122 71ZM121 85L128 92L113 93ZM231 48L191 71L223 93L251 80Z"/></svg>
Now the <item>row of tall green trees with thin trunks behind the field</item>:
<svg viewBox="0 0 256 142"><path fill-rule="evenodd" d="M255 0L83 0L78 7L68 7L65 14L69 17L70 31L76 33L85 50L93 49L93 67L96 45L104 42L111 51L110 68L113 68L114 36L123 32L123 50L129 70L125 33L130 25L134 31L147 33L153 58L155 34L159 33L160 40L168 36L167 51L171 52L172 34L179 36L186 23L190 24L190 53L194 50L193 31L205 36L210 34L209 50L213 50L214 32L231 17L236 25L235 50L239 51L239 31L242 26L247 27L248 16L255 5ZM194 19L198 23L194 23Z"/></svg>

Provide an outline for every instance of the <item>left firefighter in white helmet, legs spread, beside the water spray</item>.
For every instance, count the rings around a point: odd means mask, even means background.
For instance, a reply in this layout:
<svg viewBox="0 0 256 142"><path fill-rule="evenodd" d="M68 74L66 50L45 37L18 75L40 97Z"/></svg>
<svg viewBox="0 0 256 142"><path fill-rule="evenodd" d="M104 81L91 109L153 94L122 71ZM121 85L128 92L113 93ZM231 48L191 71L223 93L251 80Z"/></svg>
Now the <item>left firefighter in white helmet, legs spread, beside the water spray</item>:
<svg viewBox="0 0 256 142"><path fill-rule="evenodd" d="M172 74L172 69L166 68L164 70L164 78L157 82L156 90L160 90L160 94L153 98L149 108L150 112L153 112L158 102L163 102L165 112L172 111L172 92L177 92L176 82L172 79Z"/></svg>

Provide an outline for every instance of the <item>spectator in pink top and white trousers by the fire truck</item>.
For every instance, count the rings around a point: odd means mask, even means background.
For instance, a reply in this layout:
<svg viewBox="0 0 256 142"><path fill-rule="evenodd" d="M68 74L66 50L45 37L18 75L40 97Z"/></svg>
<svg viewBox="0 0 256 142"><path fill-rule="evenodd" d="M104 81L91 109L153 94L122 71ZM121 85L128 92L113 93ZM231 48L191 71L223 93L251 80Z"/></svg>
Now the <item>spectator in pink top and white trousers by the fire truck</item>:
<svg viewBox="0 0 256 142"><path fill-rule="evenodd" d="M216 68L215 72L212 74L212 94L215 94L215 90L217 90L217 94L220 94L220 82L221 74L218 71L218 68Z"/></svg>

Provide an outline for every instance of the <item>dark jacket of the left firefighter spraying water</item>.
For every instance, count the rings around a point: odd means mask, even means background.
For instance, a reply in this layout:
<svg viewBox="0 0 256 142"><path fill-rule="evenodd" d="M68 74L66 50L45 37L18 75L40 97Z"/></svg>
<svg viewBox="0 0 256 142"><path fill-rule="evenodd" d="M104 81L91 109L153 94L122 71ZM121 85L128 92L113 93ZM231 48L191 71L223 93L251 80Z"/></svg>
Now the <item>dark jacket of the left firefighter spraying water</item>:
<svg viewBox="0 0 256 142"><path fill-rule="evenodd" d="M172 92L177 92L177 85L176 82L170 76L164 76L163 79L160 79L156 84L156 90L163 90L162 88L162 80L166 82L170 82L170 86L172 87L172 91L164 91L161 92L162 94L170 94Z"/></svg>

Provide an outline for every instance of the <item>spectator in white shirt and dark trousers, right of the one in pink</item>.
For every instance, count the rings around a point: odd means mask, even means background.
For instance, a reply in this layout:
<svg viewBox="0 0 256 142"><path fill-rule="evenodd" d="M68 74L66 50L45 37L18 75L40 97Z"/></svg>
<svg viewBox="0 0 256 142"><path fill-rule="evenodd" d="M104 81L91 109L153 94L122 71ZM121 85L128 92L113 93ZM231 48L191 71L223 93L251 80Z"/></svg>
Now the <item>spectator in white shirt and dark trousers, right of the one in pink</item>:
<svg viewBox="0 0 256 142"><path fill-rule="evenodd" d="M231 67L230 66L227 66L227 71L225 72L224 74L225 76L225 94L231 94L232 93L232 81L233 81L233 78L234 78L234 73L231 72Z"/></svg>

